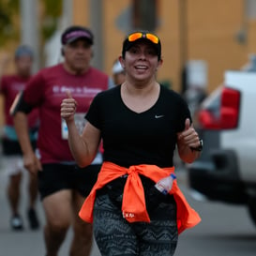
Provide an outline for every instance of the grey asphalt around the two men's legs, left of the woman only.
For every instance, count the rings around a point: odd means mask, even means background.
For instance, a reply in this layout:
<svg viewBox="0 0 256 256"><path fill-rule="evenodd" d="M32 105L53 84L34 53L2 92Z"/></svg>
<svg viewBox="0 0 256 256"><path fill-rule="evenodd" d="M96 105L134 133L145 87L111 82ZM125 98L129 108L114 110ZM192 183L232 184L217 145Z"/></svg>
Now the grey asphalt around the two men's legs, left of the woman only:
<svg viewBox="0 0 256 256"><path fill-rule="evenodd" d="M6 197L6 186L8 184L8 175L1 167L0 156L0 256L45 256L42 227L45 219L41 203L38 200L38 218L41 228L38 231L31 231L28 228L26 219L26 185L27 173L23 174L23 197L21 200L21 214L23 214L24 230L23 232L13 232L9 228L10 211ZM67 239L60 249L59 256L68 256L68 248L71 241L71 230L68 231ZM100 256L97 245L94 247L91 256Z"/></svg>

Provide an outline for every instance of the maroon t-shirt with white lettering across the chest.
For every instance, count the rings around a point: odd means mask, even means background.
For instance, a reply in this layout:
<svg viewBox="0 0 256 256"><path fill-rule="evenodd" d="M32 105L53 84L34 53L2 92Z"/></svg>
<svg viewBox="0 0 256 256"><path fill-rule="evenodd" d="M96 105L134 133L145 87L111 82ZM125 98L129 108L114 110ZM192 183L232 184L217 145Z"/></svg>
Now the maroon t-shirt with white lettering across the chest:
<svg viewBox="0 0 256 256"><path fill-rule="evenodd" d="M78 102L76 125L82 132L93 98L108 88L108 76L96 68L82 75L68 73L62 64L44 68L35 75L24 90L23 99L39 109L38 153L42 163L74 161L68 147L68 129L60 116L60 105L69 90Z"/></svg>

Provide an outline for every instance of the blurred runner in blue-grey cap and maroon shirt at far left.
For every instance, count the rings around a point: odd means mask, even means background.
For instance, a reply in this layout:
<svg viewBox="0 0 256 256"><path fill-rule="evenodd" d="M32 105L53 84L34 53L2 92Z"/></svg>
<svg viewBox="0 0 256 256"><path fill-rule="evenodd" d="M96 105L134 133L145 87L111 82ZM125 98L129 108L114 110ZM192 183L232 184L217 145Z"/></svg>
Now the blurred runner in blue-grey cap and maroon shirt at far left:
<svg viewBox="0 0 256 256"><path fill-rule="evenodd" d="M23 90L25 83L30 79L32 64L32 50L27 46L20 46L15 52L15 74L2 76L0 82L0 94L2 94L5 99L5 127L2 141L5 171L9 175L8 201L12 212L10 226L13 230L23 230L23 218L19 213L23 155L13 127L12 117L9 114L9 108L16 95ZM3 68L4 67L1 69ZM38 112L36 110L29 114L30 140L34 148L37 140L37 127ZM28 194L29 208L27 215L29 224L32 229L38 229L38 217L35 211L35 203L38 196L38 178L33 174L29 175Z"/></svg>

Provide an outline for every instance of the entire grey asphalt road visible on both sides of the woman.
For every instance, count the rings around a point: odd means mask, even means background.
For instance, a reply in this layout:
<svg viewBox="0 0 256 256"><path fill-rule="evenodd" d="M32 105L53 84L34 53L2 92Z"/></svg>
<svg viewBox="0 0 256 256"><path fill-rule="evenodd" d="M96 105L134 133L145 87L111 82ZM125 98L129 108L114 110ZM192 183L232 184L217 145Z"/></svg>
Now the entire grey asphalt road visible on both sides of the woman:
<svg viewBox="0 0 256 256"><path fill-rule="evenodd" d="M197 202L188 193L185 171L177 171L180 188L188 202L202 217L202 222L195 228L182 233L175 256L252 256L256 255L256 227L248 218L247 208L223 203ZM0 168L0 256L44 256L42 229L32 232L25 230L12 232L9 230L9 209L5 188L7 175ZM26 178L23 179L22 213L26 210L25 197ZM38 213L44 223L41 204L38 202ZM68 256L71 231L60 250L59 256ZM100 256L94 244L91 256Z"/></svg>

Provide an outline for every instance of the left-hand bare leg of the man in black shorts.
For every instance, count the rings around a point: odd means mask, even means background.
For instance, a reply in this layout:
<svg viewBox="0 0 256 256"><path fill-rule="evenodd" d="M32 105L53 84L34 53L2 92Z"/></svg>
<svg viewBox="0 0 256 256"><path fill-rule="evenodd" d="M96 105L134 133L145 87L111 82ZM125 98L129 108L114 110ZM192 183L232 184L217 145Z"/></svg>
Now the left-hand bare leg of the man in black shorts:
<svg viewBox="0 0 256 256"><path fill-rule="evenodd" d="M57 256L71 222L71 190L63 189L43 199L47 256Z"/></svg>

